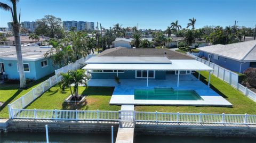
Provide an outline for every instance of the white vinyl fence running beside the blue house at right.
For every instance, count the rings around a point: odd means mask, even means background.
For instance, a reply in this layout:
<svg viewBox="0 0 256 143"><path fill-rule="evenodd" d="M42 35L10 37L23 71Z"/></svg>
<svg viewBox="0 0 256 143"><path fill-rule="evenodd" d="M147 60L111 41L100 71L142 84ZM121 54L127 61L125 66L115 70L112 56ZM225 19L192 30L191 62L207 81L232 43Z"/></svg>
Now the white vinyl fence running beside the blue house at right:
<svg viewBox="0 0 256 143"><path fill-rule="evenodd" d="M234 88L236 88L237 90L241 91L245 96L251 98L252 100L254 100L256 102L256 93L250 89L247 89L247 87L244 87L243 85L241 85L238 82L238 74L237 73L227 70L225 68L222 68L221 66L219 66L217 64L214 64L210 61L206 61L206 60L204 60L200 57L197 57L191 53L187 53L187 55L190 55L190 56L194 57L197 61L210 66L212 69L214 69L214 71L212 73L213 75L215 75L219 79L229 83L229 85L231 85Z"/></svg>

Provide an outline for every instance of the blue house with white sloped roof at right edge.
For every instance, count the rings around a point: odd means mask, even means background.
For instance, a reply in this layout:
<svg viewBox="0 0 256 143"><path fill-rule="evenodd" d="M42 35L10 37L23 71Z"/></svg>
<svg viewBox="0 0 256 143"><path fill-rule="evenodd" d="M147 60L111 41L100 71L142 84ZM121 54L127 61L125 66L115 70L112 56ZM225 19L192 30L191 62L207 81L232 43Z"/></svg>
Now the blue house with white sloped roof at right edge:
<svg viewBox="0 0 256 143"><path fill-rule="evenodd" d="M206 60L231 71L243 73L248 68L256 68L256 40L227 45L211 45L198 48Z"/></svg>

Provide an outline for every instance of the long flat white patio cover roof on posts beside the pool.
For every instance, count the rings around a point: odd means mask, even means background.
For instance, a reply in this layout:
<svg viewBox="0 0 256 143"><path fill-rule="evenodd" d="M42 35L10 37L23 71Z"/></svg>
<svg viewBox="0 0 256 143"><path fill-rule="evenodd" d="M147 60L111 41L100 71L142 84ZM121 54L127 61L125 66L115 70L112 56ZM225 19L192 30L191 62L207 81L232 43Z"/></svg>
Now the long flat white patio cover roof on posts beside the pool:
<svg viewBox="0 0 256 143"><path fill-rule="evenodd" d="M87 70L198 70L212 71L207 66L196 60L170 60L172 64L87 64L83 69Z"/></svg>

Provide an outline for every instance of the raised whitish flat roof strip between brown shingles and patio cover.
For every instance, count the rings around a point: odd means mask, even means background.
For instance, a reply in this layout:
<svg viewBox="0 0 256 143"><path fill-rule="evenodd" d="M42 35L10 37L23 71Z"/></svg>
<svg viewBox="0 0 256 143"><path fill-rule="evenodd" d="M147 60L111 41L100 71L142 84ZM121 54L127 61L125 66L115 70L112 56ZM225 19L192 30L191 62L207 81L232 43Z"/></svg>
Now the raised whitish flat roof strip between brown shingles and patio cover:
<svg viewBox="0 0 256 143"><path fill-rule="evenodd" d="M147 63L147 64L171 64L172 62L163 56L94 56L87 60L85 63Z"/></svg>

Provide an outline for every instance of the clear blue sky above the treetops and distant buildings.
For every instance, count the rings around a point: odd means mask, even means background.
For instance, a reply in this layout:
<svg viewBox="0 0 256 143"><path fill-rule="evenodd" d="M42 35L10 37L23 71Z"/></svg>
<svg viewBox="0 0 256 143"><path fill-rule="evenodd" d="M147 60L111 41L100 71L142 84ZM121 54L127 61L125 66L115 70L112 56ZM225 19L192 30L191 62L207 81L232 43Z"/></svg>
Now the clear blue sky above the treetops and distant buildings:
<svg viewBox="0 0 256 143"><path fill-rule="evenodd" d="M9 3L0 0L2 3ZM35 21L51 14L61 20L101 22L105 28L121 23L123 27L139 29L163 29L179 20L182 28L188 19L196 18L195 27L238 26L255 27L255 1L67 1L21 0L21 21ZM10 12L0 10L0 27L11 21Z"/></svg>

